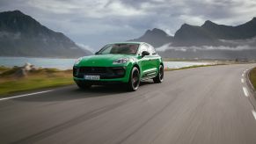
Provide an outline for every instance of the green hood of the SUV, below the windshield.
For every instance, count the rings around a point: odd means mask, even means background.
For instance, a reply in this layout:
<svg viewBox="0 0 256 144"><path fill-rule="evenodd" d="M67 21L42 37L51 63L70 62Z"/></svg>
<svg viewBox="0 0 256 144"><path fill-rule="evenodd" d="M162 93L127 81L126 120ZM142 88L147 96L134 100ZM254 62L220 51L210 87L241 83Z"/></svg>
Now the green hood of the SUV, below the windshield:
<svg viewBox="0 0 256 144"><path fill-rule="evenodd" d="M114 60L131 57L133 56L128 54L97 54L91 56L84 56L82 61L79 62L78 66L111 67L113 66Z"/></svg>

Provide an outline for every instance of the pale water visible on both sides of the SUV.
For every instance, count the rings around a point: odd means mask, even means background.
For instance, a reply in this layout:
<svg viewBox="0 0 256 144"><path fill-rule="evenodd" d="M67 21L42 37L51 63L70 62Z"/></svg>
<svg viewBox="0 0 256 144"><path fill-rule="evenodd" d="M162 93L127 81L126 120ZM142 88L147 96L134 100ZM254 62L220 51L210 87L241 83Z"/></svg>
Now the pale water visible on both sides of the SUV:
<svg viewBox="0 0 256 144"><path fill-rule="evenodd" d="M41 68L59 68L69 69L73 67L76 59L53 59L53 58L28 58L28 57L0 57L0 66L13 67L23 66L29 62ZM166 68L183 68L194 65L205 65L208 62L194 62L194 61L165 61Z"/></svg>

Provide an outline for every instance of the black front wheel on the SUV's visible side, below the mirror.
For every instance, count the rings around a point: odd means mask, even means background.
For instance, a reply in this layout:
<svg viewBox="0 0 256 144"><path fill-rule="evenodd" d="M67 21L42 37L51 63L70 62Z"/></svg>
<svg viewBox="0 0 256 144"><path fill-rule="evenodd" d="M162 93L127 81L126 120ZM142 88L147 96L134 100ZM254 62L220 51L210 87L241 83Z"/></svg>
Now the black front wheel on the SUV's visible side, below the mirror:
<svg viewBox="0 0 256 144"><path fill-rule="evenodd" d="M130 77L129 77L129 82L128 82L128 90L129 91L135 91L139 88L140 86L140 71L138 68L134 67L131 70Z"/></svg>

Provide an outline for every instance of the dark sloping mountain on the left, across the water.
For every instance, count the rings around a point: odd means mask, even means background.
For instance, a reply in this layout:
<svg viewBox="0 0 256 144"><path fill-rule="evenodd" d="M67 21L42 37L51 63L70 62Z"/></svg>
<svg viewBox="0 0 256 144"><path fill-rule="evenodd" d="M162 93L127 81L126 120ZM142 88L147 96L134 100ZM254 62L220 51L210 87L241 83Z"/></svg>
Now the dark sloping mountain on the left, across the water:
<svg viewBox="0 0 256 144"><path fill-rule="evenodd" d="M0 56L79 57L91 54L62 32L54 32L21 11L0 12Z"/></svg>

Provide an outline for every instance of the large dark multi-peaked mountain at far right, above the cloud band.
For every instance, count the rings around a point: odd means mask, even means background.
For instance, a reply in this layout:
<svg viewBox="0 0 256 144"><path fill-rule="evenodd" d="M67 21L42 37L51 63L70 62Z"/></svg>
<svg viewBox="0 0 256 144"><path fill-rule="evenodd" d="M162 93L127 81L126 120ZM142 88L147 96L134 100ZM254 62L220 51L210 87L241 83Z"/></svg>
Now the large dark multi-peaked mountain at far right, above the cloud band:
<svg viewBox="0 0 256 144"><path fill-rule="evenodd" d="M222 40L247 40L256 36L256 18L237 26L217 25L207 20L201 26L181 25L173 46L226 46Z"/></svg>

